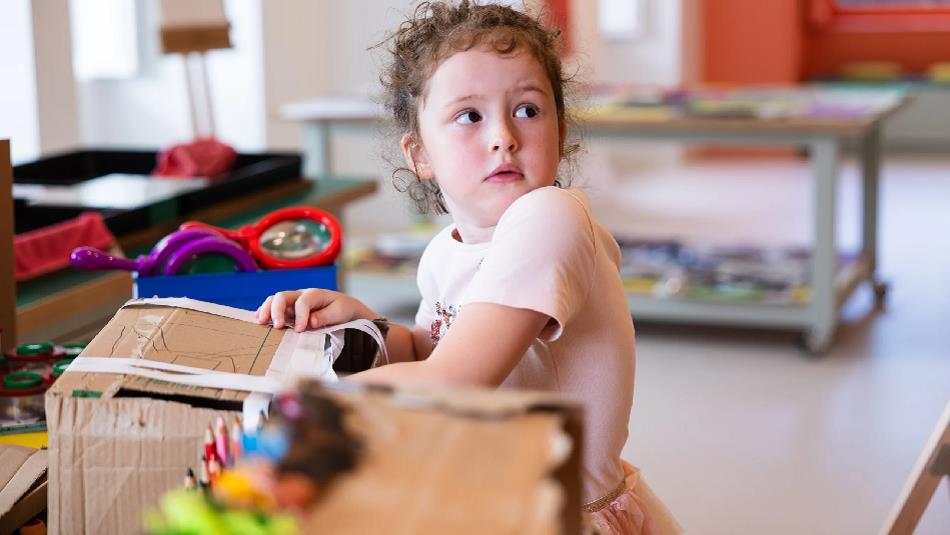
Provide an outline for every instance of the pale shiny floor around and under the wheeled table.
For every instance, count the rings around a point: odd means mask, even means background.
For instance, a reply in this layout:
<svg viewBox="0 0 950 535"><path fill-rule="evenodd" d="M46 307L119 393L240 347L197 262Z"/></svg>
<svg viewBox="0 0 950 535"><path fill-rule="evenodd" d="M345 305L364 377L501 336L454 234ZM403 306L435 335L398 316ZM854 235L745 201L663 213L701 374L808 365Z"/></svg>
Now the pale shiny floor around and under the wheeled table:
<svg viewBox="0 0 950 535"><path fill-rule="evenodd" d="M605 154L585 167L599 180L578 183L616 232L809 241L811 182L800 161L643 166ZM839 195L839 242L854 247L853 165ZM888 159L880 218L886 308L874 310L870 292L859 291L821 358L801 353L794 333L637 324L625 455L690 533L880 529L950 401L950 159ZM355 278L351 290L411 320L411 286ZM917 533L950 533L948 486Z"/></svg>

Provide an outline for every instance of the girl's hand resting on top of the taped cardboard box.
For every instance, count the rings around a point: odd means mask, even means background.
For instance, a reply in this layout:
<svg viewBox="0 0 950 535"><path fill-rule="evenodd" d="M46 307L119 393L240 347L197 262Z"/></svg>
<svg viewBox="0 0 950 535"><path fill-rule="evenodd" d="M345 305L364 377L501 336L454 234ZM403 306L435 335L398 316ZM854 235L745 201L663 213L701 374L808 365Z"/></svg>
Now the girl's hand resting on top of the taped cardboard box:
<svg viewBox="0 0 950 535"><path fill-rule="evenodd" d="M359 318L376 317L378 315L358 299L317 288L278 292L264 300L257 309L258 323L265 324L273 320L275 329L292 324L298 333Z"/></svg>

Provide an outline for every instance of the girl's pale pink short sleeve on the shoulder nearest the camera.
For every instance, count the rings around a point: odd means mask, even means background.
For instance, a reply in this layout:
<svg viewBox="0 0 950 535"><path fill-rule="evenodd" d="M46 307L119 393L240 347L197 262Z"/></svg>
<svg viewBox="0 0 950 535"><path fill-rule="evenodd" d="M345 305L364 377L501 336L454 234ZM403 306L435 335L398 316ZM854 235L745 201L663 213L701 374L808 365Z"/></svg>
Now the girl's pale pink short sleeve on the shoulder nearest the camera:
<svg viewBox="0 0 950 535"><path fill-rule="evenodd" d="M502 216L465 303L535 310L556 322L541 333L560 337L587 300L594 273L593 224L584 202L566 190L541 188Z"/></svg>

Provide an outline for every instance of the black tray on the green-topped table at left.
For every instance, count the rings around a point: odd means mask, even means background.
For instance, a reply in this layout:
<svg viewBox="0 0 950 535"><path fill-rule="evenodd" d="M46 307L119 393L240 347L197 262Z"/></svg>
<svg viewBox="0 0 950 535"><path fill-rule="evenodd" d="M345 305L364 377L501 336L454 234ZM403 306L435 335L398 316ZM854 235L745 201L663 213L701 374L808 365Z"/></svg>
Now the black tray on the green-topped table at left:
<svg viewBox="0 0 950 535"><path fill-rule="evenodd" d="M152 172L158 158L156 151L87 149L58 154L13 168L17 184L71 185L110 173L146 175ZM196 210L259 191L281 182L301 177L302 158L296 153L238 154L227 176L207 187L176 197L175 214L163 211L162 216L187 217ZM15 232L20 234L78 216L88 208L28 206L15 200ZM166 209L167 210L167 209ZM131 210L98 210L113 234L146 229L154 223L151 207Z"/></svg>

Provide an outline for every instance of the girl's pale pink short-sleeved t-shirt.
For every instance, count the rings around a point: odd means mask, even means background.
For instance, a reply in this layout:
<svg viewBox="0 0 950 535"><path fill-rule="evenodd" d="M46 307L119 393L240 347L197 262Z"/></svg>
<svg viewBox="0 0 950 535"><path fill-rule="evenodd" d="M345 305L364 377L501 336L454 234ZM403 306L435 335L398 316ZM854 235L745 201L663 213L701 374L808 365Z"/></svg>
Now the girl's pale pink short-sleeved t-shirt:
<svg viewBox="0 0 950 535"><path fill-rule="evenodd" d="M584 496L623 480L636 353L617 242L576 189L545 187L505 211L490 242L466 244L443 229L419 264L416 325L443 336L466 303L526 308L555 320L502 388L563 393L584 404ZM491 336L491 333L485 333Z"/></svg>

